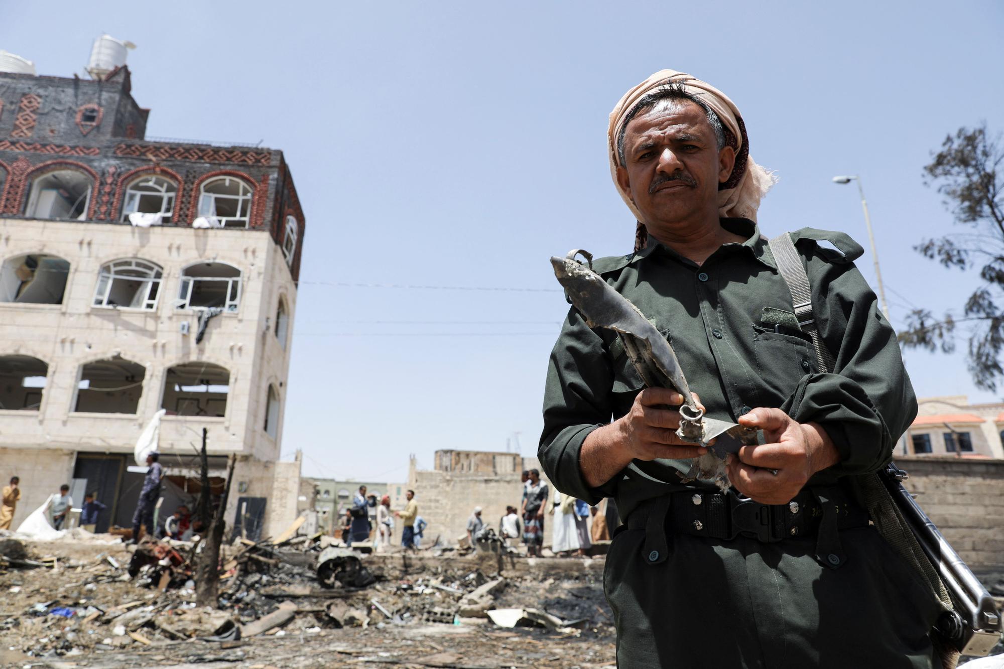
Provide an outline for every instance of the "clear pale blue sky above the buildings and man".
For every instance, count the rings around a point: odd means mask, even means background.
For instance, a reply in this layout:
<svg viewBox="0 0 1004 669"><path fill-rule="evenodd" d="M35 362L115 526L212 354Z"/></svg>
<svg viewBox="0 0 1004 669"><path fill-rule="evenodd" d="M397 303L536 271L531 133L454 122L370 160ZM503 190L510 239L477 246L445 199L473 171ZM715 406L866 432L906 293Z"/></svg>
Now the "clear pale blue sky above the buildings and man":
<svg viewBox="0 0 1004 669"><path fill-rule="evenodd" d="M687 5L690 5L688 7ZM922 167L945 135L1004 130L998 2L136 2L0 0L0 48L82 70L130 39L151 136L256 142L289 161L307 219L283 451L309 475L404 480L408 454L535 453L567 305L547 258L631 250L606 116L663 67L729 94L780 183L768 234L866 246L893 321L973 285L912 250L949 229ZM870 255L859 261L873 278ZM523 290L347 287L339 283ZM332 285L333 284L333 285ZM921 396L976 392L961 357L911 352Z"/></svg>

